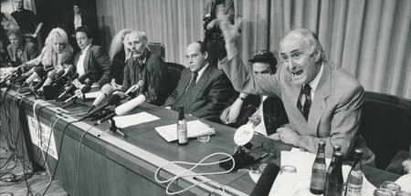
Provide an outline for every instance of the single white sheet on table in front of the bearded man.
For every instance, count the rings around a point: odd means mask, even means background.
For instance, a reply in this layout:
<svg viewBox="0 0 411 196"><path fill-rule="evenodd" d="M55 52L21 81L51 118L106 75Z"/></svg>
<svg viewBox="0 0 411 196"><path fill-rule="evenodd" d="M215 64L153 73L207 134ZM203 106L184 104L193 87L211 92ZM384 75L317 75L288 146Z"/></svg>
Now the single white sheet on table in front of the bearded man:
<svg viewBox="0 0 411 196"><path fill-rule="evenodd" d="M143 111L137 114L114 117L113 119L116 121L117 127L127 128L133 125L142 124L144 122L150 122L160 118Z"/></svg>

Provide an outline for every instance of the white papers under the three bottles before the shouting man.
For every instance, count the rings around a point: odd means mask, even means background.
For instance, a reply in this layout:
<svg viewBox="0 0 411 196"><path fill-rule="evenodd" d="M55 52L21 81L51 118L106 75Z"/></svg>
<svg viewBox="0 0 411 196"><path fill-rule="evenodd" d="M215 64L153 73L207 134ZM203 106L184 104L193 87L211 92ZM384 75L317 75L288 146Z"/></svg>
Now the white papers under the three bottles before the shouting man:
<svg viewBox="0 0 411 196"><path fill-rule="evenodd" d="M297 174L290 178L289 176L279 175L274 181L269 195L314 195L310 192L311 169L316 154L311 152L292 149L290 151L281 151L281 166L291 165L297 169ZM331 159L325 159L325 163L330 164ZM347 181L348 173L351 166L342 165L342 177ZM361 195L373 195L375 187L365 178L363 174L363 190Z"/></svg>

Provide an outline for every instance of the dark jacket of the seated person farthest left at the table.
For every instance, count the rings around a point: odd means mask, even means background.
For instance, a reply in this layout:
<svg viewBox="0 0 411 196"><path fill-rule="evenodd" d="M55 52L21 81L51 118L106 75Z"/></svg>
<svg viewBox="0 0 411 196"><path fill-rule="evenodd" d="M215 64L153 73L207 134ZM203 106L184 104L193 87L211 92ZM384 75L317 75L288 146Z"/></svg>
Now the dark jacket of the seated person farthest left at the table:
<svg viewBox="0 0 411 196"><path fill-rule="evenodd" d="M7 52L10 56L10 59L13 62L16 62L16 50L17 47L13 45L7 46ZM26 63L27 61L34 59L38 56L37 46L31 42L26 42L26 45L22 48L22 54L20 56L21 62L18 62L19 65ZM17 66L19 66L17 65Z"/></svg>

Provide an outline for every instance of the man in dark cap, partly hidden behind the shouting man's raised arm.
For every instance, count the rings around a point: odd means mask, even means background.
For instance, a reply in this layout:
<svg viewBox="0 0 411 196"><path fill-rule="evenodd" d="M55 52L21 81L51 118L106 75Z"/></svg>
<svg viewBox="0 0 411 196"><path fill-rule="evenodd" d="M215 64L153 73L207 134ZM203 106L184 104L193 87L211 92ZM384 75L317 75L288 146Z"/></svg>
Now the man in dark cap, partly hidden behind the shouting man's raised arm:
<svg viewBox="0 0 411 196"><path fill-rule="evenodd" d="M254 75L275 73L277 60L274 55L261 50L250 59ZM232 127L240 127L246 123L253 123L255 131L264 136L273 136L279 126L289 123L281 99L277 96L258 96L240 93L234 97L235 101L226 108L220 119ZM234 102L234 103L233 103Z"/></svg>

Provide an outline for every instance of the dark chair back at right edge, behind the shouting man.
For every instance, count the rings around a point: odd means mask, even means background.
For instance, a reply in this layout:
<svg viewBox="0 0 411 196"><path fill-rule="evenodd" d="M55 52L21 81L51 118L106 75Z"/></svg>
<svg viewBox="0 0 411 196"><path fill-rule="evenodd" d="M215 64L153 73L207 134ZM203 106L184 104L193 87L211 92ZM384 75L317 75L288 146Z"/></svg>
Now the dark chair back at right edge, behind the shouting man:
<svg viewBox="0 0 411 196"><path fill-rule="evenodd" d="M359 131L375 154L376 168L385 170L399 150L410 149L411 100L365 92Z"/></svg>

